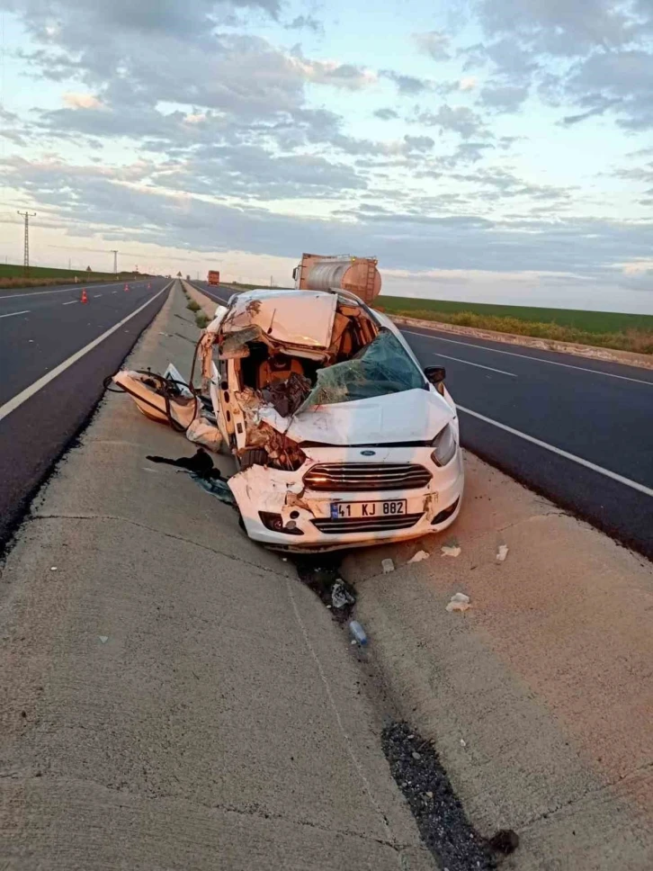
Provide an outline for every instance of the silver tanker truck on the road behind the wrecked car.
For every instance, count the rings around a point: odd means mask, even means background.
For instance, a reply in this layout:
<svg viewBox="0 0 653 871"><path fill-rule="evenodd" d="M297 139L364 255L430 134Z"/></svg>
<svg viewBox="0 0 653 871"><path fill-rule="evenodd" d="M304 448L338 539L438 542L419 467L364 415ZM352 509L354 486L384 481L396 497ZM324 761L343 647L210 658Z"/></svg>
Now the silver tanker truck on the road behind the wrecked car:
<svg viewBox="0 0 653 871"><path fill-rule="evenodd" d="M292 270L292 277L297 290L327 291L340 288L355 293L363 302L369 303L380 294L378 263L376 257L302 254L301 263Z"/></svg>

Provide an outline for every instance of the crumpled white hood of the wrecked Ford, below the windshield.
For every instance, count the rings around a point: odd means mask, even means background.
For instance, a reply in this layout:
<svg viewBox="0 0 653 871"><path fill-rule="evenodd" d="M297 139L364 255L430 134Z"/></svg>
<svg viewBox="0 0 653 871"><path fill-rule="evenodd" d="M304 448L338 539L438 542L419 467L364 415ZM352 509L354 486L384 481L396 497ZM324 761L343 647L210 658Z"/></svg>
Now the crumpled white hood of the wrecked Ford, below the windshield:
<svg viewBox="0 0 653 871"><path fill-rule="evenodd" d="M439 393L425 390L389 393L369 400L338 402L282 418L261 409L261 418L294 442L351 446L430 442L455 418Z"/></svg>

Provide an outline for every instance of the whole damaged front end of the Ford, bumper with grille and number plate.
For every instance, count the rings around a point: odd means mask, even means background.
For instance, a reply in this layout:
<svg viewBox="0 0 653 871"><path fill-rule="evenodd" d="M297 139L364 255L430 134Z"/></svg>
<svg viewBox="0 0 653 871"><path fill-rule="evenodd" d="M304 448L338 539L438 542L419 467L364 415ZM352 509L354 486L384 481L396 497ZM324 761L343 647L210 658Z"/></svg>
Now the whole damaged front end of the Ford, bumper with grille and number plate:
<svg viewBox="0 0 653 871"><path fill-rule="evenodd" d="M296 471L253 465L229 480L250 538L290 551L361 547L441 532L460 511L460 448L444 467L428 447L306 453Z"/></svg>

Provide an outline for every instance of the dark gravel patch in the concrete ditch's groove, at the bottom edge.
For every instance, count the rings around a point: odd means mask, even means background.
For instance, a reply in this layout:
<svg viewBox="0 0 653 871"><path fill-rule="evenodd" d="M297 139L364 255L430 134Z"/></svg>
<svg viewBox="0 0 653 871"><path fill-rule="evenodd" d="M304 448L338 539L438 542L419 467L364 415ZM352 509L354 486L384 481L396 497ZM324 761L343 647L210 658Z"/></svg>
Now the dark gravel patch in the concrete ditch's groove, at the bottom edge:
<svg viewBox="0 0 653 871"><path fill-rule="evenodd" d="M494 869L496 854L465 816L434 747L407 723L386 726L381 746L438 867L449 871Z"/></svg>

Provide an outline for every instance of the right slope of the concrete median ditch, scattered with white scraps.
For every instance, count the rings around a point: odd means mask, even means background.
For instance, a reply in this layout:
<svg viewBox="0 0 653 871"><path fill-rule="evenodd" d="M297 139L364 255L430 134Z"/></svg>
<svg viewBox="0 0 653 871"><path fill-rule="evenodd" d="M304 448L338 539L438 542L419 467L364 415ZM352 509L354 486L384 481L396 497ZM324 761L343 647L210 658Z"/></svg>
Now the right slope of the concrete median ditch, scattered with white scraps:
<svg viewBox="0 0 653 871"><path fill-rule="evenodd" d="M389 691L479 830L519 832L504 867L649 871L653 567L469 453L466 474L443 536L344 562Z"/></svg>

